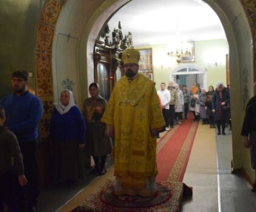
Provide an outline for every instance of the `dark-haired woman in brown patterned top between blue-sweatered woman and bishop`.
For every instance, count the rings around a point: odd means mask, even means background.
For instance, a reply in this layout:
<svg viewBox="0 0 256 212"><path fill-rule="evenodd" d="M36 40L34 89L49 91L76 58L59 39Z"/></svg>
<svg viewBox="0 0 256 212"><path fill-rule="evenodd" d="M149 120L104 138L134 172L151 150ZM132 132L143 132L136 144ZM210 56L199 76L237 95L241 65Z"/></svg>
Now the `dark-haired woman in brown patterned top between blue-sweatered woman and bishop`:
<svg viewBox="0 0 256 212"><path fill-rule="evenodd" d="M88 150L94 159L95 167L91 174L101 176L106 173L106 158L112 151L112 143L109 137L105 137L105 123L100 119L106 109L106 99L100 96L100 86L93 82L89 85L90 98L85 99L84 116L86 122L86 135Z"/></svg>

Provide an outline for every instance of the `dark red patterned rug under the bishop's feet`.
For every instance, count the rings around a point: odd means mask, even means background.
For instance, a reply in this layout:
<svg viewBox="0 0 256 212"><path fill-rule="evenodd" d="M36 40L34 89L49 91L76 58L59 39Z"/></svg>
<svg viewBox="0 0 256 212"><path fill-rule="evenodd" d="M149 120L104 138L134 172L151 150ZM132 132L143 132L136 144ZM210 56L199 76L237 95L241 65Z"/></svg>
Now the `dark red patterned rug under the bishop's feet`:
<svg viewBox="0 0 256 212"><path fill-rule="evenodd" d="M157 182L158 191L154 197L116 196L114 195L114 181L106 181L98 190L72 212L80 211L179 211L182 199L182 182Z"/></svg>

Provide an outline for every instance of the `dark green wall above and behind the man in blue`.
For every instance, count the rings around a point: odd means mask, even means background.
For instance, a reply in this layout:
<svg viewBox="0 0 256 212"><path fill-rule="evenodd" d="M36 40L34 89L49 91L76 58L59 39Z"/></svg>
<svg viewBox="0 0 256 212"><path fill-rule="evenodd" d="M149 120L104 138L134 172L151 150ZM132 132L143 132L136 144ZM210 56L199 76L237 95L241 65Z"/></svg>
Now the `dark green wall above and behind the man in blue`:
<svg viewBox="0 0 256 212"><path fill-rule="evenodd" d="M35 30L43 1L0 1L0 99L12 93L13 70L24 68L33 73L30 88L35 90Z"/></svg>

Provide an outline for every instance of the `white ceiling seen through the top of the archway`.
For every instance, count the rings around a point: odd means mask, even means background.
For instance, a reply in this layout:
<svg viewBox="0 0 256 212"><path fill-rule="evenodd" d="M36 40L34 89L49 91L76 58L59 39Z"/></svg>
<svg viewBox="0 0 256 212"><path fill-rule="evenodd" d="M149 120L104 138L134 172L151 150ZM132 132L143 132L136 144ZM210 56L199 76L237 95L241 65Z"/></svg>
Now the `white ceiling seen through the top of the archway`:
<svg viewBox="0 0 256 212"><path fill-rule="evenodd" d="M109 20L110 31L119 21L124 35L133 34L134 46L226 39L220 19L201 0L133 0Z"/></svg>

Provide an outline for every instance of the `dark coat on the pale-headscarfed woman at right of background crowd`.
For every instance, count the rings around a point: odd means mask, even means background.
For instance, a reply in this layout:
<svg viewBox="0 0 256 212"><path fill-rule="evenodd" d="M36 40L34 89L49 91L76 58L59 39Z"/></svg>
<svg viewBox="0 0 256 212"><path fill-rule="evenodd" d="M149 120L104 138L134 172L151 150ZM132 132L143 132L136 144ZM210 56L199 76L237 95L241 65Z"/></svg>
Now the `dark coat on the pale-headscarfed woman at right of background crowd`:
<svg viewBox="0 0 256 212"><path fill-rule="evenodd" d="M225 105L221 105L221 102L225 102ZM228 119L230 110L230 99L229 91L227 91L227 88L223 88L222 98L220 96L220 91L218 91L217 89L215 90L212 96L212 110L215 110L215 121L226 121Z"/></svg>

